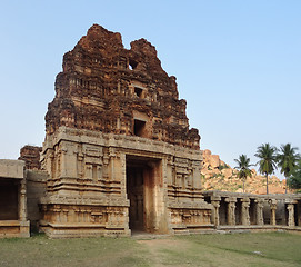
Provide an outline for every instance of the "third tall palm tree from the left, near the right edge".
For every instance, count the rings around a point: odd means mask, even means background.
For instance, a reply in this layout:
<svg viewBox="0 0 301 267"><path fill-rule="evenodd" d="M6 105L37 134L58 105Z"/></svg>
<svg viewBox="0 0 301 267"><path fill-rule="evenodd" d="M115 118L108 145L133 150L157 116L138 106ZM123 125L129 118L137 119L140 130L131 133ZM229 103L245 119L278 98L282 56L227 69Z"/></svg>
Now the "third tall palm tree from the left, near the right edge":
<svg viewBox="0 0 301 267"><path fill-rule="evenodd" d="M288 178L295 169L300 158L297 150L298 148L291 147L291 144L281 145L280 152L277 155L277 165L280 168L280 172L285 177L285 194L288 192Z"/></svg>

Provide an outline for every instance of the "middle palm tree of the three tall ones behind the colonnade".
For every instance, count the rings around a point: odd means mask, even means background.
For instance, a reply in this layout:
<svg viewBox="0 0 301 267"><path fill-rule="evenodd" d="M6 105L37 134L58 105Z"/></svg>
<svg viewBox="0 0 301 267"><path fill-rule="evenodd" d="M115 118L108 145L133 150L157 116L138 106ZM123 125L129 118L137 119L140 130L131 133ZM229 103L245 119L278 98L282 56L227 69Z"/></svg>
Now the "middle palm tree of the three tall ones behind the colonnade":
<svg viewBox="0 0 301 267"><path fill-rule="evenodd" d="M260 174L264 175L267 179L267 195L269 194L269 186L268 186L269 175L273 174L274 170L277 169L275 152L277 152L277 148L271 146L269 142L262 144L261 146L257 148L255 157L260 159L257 164L259 164Z"/></svg>

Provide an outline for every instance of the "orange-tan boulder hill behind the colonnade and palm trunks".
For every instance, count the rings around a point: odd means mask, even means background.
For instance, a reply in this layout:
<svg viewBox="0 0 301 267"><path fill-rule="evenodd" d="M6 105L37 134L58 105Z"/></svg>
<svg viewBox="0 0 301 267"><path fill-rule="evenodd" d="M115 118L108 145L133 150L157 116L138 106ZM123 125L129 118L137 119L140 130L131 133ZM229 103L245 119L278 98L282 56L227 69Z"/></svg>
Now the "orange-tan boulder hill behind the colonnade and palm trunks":
<svg viewBox="0 0 301 267"><path fill-rule="evenodd" d="M203 150L202 185L204 190L221 190L242 192L242 180L238 178L238 170L223 162L218 155ZM252 169L252 177L245 180L245 192L265 194L265 177ZM285 192L285 181L275 176L269 177L269 192Z"/></svg>

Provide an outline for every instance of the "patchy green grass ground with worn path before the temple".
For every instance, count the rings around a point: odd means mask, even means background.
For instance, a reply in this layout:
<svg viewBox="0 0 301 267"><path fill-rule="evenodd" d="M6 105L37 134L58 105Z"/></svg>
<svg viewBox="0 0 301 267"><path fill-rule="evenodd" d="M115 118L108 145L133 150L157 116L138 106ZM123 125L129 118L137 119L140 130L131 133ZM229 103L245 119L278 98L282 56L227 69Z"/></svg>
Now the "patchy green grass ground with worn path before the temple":
<svg viewBox="0 0 301 267"><path fill-rule="evenodd" d="M0 239L0 266L301 266L301 235Z"/></svg>

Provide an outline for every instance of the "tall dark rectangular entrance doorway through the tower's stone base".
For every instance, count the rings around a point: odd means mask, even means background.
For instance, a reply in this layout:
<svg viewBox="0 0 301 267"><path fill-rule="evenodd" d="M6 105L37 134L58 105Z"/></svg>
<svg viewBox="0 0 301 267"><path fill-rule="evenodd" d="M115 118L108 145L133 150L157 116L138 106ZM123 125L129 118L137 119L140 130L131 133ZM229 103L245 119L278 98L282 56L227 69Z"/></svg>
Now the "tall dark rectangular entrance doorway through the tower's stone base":
<svg viewBox="0 0 301 267"><path fill-rule="evenodd" d="M160 159L127 156L127 195L132 233L165 233ZM161 202L161 205L158 205Z"/></svg>

